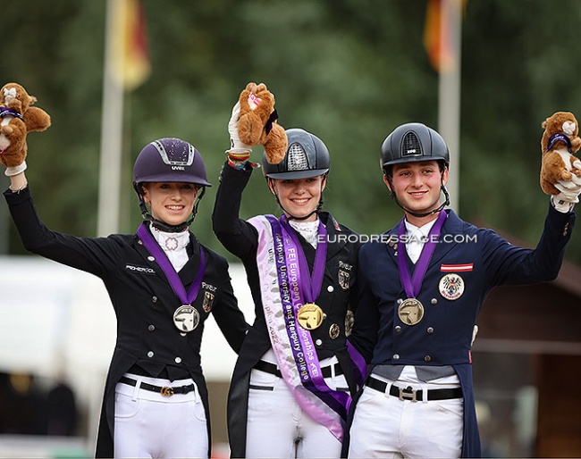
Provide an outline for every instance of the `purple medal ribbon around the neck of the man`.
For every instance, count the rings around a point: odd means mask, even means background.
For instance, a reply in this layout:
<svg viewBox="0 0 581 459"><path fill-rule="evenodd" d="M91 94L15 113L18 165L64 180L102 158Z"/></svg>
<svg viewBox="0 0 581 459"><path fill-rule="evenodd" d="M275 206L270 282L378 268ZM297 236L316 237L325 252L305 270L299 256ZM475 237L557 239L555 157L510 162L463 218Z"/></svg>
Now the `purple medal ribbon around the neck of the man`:
<svg viewBox="0 0 581 459"><path fill-rule="evenodd" d="M403 253L405 248L400 250L400 255L398 255L398 271L400 271L401 285L403 286L408 298L415 298L419 293L420 288L422 288L425 271L427 271L427 266L432 259L432 255L434 255L436 247L434 239L440 237L440 231L442 230L444 221L446 221L446 217L448 217L448 214L442 211L438 216L438 220L434 223L432 230L430 230L427 237L428 240L425 242L422 253L419 255L419 259L417 260L413 278L409 275L408 263L406 262L406 257ZM402 220L400 223L400 230L398 230L398 240L403 240L402 238L405 232L406 223Z"/></svg>

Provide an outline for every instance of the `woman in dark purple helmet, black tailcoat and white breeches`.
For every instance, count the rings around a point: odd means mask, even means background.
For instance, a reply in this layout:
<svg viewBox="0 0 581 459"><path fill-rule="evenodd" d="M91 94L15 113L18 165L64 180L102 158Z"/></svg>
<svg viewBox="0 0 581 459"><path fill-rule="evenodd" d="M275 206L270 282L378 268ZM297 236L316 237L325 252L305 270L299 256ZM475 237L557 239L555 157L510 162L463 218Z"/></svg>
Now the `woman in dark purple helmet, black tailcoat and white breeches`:
<svg viewBox="0 0 581 459"><path fill-rule="evenodd" d="M7 170L4 196L24 246L101 278L117 318L97 457L209 457L206 381L200 364L212 313L232 349L247 324L226 260L189 231L210 184L198 150L177 138L145 146L133 171L144 223L137 234L77 238L48 230L23 171Z"/></svg>

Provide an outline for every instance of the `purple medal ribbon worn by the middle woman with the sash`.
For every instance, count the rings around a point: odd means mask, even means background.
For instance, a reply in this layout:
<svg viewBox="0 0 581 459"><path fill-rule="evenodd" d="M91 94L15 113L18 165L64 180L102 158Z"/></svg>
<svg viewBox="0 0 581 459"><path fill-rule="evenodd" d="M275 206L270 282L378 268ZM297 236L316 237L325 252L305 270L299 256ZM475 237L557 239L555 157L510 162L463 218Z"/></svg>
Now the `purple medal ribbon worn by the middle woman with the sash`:
<svg viewBox="0 0 581 459"><path fill-rule="evenodd" d="M303 278L301 282L301 290L305 299L305 303L314 303L316 298L321 293L321 287L323 286L324 278L324 265L327 259L327 229L324 227L322 221L319 220L319 229L317 232L317 245L315 250L315 263L313 263L313 274L311 275L308 269L307 257L305 252L300 245L299 237L297 233L290 227L290 223L285 215L281 217L281 225L284 230L289 234L292 242L297 246L297 252L299 255L299 270Z"/></svg>

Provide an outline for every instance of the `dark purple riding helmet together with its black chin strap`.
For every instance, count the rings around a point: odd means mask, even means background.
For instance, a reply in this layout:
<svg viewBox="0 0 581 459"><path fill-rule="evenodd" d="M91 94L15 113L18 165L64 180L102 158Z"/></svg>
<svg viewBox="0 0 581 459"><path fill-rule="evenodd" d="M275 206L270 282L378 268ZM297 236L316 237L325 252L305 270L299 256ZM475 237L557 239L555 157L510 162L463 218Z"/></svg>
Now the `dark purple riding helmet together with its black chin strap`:
<svg viewBox="0 0 581 459"><path fill-rule="evenodd" d="M179 225L170 225L156 220L143 198L143 185L149 182L192 183L198 186L196 204L187 221ZM162 231L181 232L186 230L198 213L199 201L204 196L206 187L211 187L206 179L206 166L198 150L179 138L160 138L144 146L133 166L133 188L139 199L141 215L146 221Z"/></svg>

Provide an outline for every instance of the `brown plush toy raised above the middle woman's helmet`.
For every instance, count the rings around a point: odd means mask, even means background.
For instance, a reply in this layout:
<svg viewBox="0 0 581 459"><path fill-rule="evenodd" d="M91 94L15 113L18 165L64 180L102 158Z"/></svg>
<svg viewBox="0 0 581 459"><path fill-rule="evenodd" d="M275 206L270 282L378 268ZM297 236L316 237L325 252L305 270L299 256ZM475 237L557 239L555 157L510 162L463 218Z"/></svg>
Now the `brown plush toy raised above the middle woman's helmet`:
<svg viewBox="0 0 581 459"><path fill-rule="evenodd" d="M262 145L268 163L280 163L286 153L288 139L277 118L274 94L264 83L248 83L234 105L228 124L232 144L230 155L240 159L246 156L248 159L251 147Z"/></svg>

